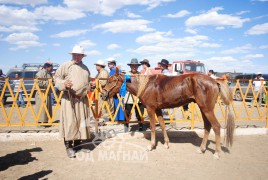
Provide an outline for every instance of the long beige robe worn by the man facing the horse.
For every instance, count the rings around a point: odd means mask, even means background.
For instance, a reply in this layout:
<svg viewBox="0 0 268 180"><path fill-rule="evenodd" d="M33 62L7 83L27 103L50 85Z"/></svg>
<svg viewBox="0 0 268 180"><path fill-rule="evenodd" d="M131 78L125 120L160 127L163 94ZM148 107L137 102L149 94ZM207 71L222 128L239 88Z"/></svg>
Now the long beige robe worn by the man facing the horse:
<svg viewBox="0 0 268 180"><path fill-rule="evenodd" d="M75 97L70 98L65 88L65 81L71 80L71 92ZM86 65L68 61L62 64L55 74L55 86L64 91L61 99L60 136L66 141L90 138L90 110L87 98L87 87L90 72Z"/></svg>

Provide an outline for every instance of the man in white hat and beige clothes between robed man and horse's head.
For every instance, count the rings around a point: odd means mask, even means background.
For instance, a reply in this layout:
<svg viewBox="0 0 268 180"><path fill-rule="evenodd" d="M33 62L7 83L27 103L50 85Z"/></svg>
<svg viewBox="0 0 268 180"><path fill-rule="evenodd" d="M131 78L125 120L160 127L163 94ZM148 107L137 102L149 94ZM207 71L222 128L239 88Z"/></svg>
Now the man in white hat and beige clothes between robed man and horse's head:
<svg viewBox="0 0 268 180"><path fill-rule="evenodd" d="M108 78L109 77L109 72L105 69L105 63L103 61L99 60L94 65L96 65L96 70L98 71L98 74L95 77L96 79L99 79L99 78ZM95 87L96 87L96 83L95 82L92 82L91 83L92 89L95 89ZM102 88L106 85L106 83L107 83L107 80L99 80L99 85ZM98 97L98 114L100 112L102 112L101 113L101 116L103 118L108 118L109 115L108 115L106 109L102 109L102 111L101 111L101 106L102 106L102 104L103 104L104 101L102 100L102 98L101 98L100 95L101 94L99 93L99 97Z"/></svg>

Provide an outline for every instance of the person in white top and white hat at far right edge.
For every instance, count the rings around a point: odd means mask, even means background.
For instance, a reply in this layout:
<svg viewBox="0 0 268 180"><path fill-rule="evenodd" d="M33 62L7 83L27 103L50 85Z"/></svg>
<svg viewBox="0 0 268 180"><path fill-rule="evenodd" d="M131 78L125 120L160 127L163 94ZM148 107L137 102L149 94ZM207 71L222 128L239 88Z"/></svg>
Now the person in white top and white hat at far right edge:
<svg viewBox="0 0 268 180"><path fill-rule="evenodd" d="M254 94L258 95L257 97L257 101L258 101L258 105L261 106L261 102L262 102L262 97L263 97L263 85L265 84L264 78L262 77L262 73L258 72L257 73L257 77L253 80L253 86L254 86ZM252 106L254 105L254 97L251 101Z"/></svg>

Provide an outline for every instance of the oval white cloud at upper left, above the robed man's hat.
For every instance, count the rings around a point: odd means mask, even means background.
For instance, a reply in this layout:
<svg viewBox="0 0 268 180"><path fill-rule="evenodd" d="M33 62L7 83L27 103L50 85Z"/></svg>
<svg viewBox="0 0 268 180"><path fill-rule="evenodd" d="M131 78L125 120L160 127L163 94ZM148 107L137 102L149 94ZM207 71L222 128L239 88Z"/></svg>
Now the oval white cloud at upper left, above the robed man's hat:
<svg viewBox="0 0 268 180"><path fill-rule="evenodd" d="M62 6L42 6L35 9L35 14L39 19L56 21L76 20L86 16L80 10Z"/></svg>

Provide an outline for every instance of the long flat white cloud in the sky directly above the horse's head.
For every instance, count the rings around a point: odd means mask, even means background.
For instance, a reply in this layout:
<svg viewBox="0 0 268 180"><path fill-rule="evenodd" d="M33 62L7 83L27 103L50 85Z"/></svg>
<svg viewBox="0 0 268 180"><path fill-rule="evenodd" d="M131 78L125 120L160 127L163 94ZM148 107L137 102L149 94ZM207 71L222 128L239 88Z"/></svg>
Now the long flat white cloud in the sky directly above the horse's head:
<svg viewBox="0 0 268 180"><path fill-rule="evenodd" d="M104 32L112 33L130 33L135 31L149 32L154 31L154 29L149 28L148 25L151 21L137 19L137 20L114 20L104 24L98 24L93 27L93 29L104 29Z"/></svg>

